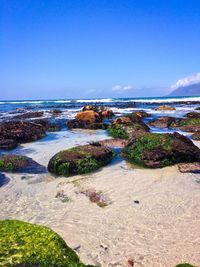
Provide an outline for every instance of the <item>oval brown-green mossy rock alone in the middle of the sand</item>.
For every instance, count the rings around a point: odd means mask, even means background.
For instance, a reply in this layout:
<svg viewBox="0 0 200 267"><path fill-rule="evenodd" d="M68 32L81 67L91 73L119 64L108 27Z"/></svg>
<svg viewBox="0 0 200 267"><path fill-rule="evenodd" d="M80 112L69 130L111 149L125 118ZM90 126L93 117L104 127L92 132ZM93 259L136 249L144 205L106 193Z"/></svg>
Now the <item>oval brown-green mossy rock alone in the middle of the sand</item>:
<svg viewBox="0 0 200 267"><path fill-rule="evenodd" d="M48 164L48 171L70 176L95 171L111 162L113 152L101 144L77 146L58 152Z"/></svg>

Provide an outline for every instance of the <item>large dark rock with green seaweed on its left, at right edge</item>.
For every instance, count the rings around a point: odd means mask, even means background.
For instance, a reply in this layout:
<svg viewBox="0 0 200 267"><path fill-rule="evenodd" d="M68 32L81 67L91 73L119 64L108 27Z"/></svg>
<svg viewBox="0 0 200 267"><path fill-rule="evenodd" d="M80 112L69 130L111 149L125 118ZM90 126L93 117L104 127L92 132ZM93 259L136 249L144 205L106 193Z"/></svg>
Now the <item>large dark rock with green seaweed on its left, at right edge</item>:
<svg viewBox="0 0 200 267"><path fill-rule="evenodd" d="M200 149L179 133L146 133L130 142L122 154L130 162L149 168L200 160Z"/></svg>

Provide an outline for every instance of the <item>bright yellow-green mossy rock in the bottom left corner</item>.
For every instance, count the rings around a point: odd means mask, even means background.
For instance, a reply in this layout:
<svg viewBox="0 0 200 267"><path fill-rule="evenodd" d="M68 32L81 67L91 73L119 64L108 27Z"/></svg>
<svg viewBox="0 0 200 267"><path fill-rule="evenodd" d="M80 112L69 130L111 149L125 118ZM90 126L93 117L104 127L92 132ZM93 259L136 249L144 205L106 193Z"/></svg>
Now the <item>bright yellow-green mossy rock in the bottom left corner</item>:
<svg viewBox="0 0 200 267"><path fill-rule="evenodd" d="M82 264L76 253L48 227L17 220L4 220L0 221L0 266L84 267L86 265Z"/></svg>

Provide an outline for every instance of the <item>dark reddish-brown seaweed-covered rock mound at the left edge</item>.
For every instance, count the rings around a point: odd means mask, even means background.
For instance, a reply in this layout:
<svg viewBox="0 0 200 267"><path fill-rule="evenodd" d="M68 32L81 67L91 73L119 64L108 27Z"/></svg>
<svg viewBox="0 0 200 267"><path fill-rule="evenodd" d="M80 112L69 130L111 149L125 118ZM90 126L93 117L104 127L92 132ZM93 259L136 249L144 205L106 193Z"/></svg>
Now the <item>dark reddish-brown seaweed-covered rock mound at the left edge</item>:
<svg viewBox="0 0 200 267"><path fill-rule="evenodd" d="M9 147L16 147L16 143L27 143L31 141L36 141L45 136L45 129L43 126L38 125L34 122L22 122L22 121L8 121L0 124L0 140L2 143L6 144L9 141ZM5 145L4 145L5 147Z"/></svg>

